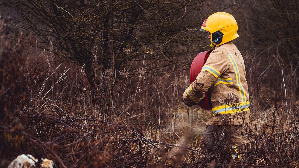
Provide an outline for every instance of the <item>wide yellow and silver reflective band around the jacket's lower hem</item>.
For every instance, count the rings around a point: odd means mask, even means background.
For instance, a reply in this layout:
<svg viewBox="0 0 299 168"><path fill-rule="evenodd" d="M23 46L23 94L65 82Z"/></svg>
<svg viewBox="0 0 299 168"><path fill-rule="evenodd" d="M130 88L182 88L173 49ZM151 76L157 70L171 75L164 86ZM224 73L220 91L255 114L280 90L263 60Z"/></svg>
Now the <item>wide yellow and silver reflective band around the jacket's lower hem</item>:
<svg viewBox="0 0 299 168"><path fill-rule="evenodd" d="M229 113L238 113L245 112L249 110L249 101L241 102L237 104L222 105L212 108L213 114L229 114Z"/></svg>

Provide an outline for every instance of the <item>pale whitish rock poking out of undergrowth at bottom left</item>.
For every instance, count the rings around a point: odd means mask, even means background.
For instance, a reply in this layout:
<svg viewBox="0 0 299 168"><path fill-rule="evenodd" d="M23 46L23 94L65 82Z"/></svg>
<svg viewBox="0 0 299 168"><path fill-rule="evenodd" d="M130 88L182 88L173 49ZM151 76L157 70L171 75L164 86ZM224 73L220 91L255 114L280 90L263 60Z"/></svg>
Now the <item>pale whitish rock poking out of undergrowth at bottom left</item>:
<svg viewBox="0 0 299 168"><path fill-rule="evenodd" d="M33 168L37 159L32 155L19 155L13 160L7 168ZM54 162L48 159L42 159L40 164L43 168L53 168Z"/></svg>

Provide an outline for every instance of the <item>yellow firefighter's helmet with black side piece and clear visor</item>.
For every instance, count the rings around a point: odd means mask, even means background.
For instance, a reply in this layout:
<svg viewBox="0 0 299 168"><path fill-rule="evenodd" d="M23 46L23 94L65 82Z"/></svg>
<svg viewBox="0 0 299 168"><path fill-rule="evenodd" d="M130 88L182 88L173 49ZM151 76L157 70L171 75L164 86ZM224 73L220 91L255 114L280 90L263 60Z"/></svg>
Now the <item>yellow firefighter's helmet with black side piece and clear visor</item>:
<svg viewBox="0 0 299 168"><path fill-rule="evenodd" d="M239 37L238 25L233 16L225 12L210 15L200 28L203 32L211 33L210 48L219 46Z"/></svg>

